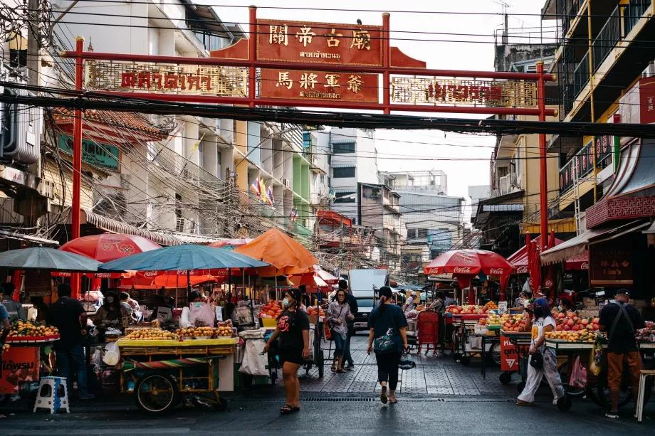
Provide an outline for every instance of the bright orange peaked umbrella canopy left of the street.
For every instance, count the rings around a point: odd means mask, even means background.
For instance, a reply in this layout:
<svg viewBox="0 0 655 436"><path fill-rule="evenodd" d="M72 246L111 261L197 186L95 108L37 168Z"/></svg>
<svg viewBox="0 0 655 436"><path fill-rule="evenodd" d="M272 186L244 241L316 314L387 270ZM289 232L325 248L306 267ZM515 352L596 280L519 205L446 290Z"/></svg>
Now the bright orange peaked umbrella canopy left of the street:
<svg viewBox="0 0 655 436"><path fill-rule="evenodd" d="M258 269L262 277L307 274L318 264L318 259L303 245L276 228L271 228L250 243L236 248L234 252L270 264L270 267Z"/></svg>

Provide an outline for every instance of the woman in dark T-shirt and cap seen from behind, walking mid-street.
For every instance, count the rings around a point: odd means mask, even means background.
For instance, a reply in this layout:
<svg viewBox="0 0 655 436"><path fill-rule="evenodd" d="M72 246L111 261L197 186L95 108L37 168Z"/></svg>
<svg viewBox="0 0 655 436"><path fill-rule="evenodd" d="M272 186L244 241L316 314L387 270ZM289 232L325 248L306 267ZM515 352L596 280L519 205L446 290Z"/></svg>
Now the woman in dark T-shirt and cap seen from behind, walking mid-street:
<svg viewBox="0 0 655 436"><path fill-rule="evenodd" d="M379 399L382 404L387 404L387 400L394 404L397 403L394 394L398 385L398 365L402 352L407 350L407 318L401 307L392 304L390 287L381 287L378 296L379 306L373 309L368 320L370 333L367 352L375 353L377 381L382 386Z"/></svg>

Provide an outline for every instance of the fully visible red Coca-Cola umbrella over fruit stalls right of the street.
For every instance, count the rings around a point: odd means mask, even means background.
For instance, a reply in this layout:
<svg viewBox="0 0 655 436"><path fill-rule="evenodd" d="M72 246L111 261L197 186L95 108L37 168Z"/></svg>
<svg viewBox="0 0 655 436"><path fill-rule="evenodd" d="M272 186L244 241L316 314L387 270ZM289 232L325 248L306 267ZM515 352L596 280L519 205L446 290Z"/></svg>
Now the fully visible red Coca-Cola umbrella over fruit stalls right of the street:
<svg viewBox="0 0 655 436"><path fill-rule="evenodd" d="M446 251L424 268L426 275L449 273L457 279L461 289L471 289L469 303L473 304L474 294L471 280L483 272L486 275L501 276L501 299L505 299L507 279L512 273L513 265L505 257L486 250L451 250Z"/></svg>

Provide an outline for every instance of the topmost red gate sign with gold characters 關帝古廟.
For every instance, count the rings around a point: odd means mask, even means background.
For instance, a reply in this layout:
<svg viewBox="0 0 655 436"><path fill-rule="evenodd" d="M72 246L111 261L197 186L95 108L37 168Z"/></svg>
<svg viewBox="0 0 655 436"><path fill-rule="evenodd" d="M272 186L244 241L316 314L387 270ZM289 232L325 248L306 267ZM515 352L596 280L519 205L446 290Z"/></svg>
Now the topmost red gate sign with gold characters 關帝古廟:
<svg viewBox="0 0 655 436"><path fill-rule="evenodd" d="M382 65L382 27L257 20L257 59Z"/></svg>

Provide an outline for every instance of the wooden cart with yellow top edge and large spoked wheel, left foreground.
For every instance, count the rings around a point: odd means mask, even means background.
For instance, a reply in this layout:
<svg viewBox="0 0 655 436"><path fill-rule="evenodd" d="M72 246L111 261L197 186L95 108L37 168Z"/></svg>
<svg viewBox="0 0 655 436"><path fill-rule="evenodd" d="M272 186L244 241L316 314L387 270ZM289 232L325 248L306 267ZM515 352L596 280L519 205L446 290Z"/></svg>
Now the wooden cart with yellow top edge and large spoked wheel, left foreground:
<svg viewBox="0 0 655 436"><path fill-rule="evenodd" d="M219 361L234 353L238 341L229 336L119 339L120 392L134 393L137 406L148 413L171 410L181 393L203 395L216 410L224 410L227 400L219 395Z"/></svg>

